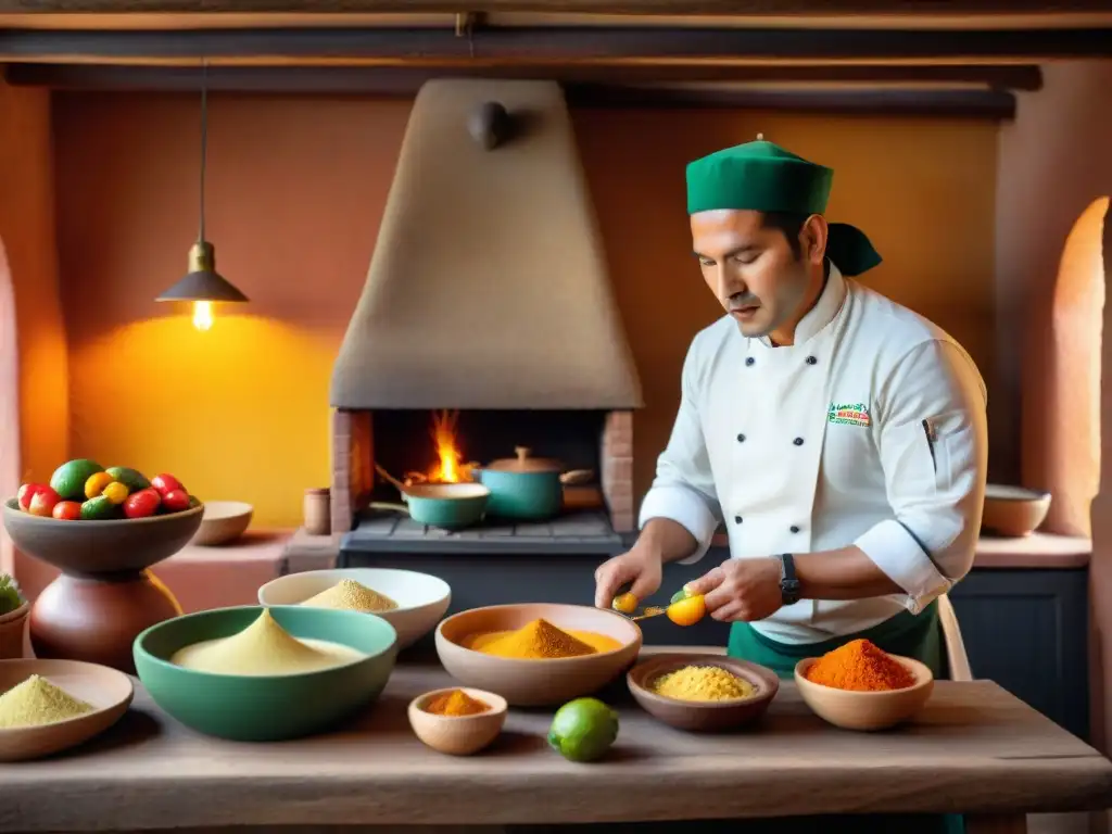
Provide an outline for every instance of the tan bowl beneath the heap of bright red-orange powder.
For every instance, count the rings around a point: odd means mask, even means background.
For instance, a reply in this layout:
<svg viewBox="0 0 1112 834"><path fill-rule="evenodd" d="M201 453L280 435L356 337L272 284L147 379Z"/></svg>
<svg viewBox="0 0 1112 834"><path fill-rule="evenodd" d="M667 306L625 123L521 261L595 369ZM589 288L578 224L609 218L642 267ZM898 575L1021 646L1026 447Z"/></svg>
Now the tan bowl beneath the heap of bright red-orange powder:
<svg viewBox="0 0 1112 834"><path fill-rule="evenodd" d="M887 729L913 718L934 691L934 675L930 668L911 657L888 657L903 664L915 676L912 686L885 692L856 692L815 684L804 675L817 657L806 657L795 665L795 685L815 715L836 727Z"/></svg>

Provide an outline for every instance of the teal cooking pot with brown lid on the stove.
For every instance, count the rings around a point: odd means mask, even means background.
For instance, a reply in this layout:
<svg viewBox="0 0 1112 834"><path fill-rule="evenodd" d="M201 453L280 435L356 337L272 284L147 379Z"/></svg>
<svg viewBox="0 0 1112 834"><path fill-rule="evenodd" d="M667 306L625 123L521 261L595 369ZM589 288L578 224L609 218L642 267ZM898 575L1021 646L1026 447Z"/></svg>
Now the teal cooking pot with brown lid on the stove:
<svg viewBox="0 0 1112 834"><path fill-rule="evenodd" d="M471 469L471 477L490 490L487 515L529 522L552 518L564 504L565 485L594 477L589 469L565 471L559 460L529 457L524 446L514 451L517 457Z"/></svg>

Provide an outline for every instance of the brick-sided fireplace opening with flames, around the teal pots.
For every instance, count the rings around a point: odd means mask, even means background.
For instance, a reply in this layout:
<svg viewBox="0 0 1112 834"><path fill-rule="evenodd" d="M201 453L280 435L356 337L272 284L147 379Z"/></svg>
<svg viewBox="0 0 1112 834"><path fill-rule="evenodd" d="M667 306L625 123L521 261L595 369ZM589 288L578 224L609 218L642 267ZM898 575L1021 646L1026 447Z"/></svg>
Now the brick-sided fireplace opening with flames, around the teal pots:
<svg viewBox="0 0 1112 834"><path fill-rule="evenodd" d="M451 548L525 553L599 553L622 546L634 529L633 413L628 410L468 410L450 424L458 461L488 464L527 446L567 469L590 473L564 488L560 514L542 523L489 519L448 533L400 514L368 509L398 502L376 465L408 481L441 468L434 430L447 413L421 409L337 409L332 416L332 530L349 549L426 552ZM467 479L460 466L460 479Z"/></svg>

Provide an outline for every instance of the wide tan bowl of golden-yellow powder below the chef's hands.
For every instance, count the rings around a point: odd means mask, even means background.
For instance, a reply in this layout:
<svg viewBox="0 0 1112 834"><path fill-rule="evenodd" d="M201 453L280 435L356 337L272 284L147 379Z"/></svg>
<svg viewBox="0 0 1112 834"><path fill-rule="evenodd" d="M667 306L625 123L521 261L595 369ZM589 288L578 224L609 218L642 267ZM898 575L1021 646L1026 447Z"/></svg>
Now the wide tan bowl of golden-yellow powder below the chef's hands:
<svg viewBox="0 0 1112 834"><path fill-rule="evenodd" d="M595 693L633 665L641 645L636 623L585 605L492 605L454 614L436 628L448 673L514 706Z"/></svg>

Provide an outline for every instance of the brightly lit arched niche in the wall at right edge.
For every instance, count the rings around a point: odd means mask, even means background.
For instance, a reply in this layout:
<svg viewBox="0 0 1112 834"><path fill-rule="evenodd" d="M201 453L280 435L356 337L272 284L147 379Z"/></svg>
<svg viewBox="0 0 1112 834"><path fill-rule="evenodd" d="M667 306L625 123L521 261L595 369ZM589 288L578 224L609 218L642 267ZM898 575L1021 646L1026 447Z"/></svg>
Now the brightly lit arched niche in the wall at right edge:
<svg viewBox="0 0 1112 834"><path fill-rule="evenodd" d="M1048 373L1037 387L1036 401L1024 409L1036 430L1024 444L1023 480L1049 489L1053 496L1042 529L1086 538L1092 536L1090 512L1101 483L1109 203L1109 197L1089 203L1066 236L1050 299L1050 331L1043 342Z"/></svg>

